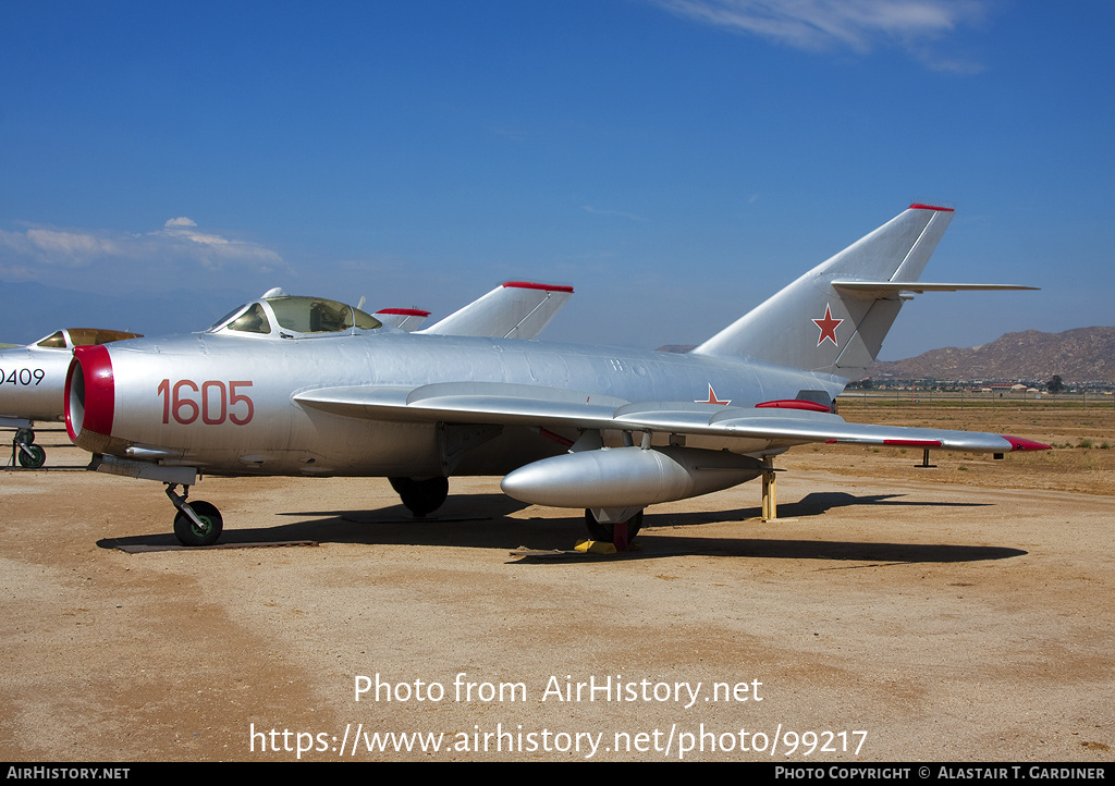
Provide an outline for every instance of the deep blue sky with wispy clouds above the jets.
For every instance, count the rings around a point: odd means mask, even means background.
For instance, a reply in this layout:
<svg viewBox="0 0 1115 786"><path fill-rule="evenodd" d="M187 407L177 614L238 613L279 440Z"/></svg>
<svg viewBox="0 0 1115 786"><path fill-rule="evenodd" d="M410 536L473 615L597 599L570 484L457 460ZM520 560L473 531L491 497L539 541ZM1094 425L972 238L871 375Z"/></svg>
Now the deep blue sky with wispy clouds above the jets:
<svg viewBox="0 0 1115 786"><path fill-rule="evenodd" d="M532 279L576 290L545 338L696 343L912 202L957 210L925 279L1043 291L919 297L884 359L1112 324L1113 33L1108 0L9 0L0 287L90 297L0 339Z"/></svg>

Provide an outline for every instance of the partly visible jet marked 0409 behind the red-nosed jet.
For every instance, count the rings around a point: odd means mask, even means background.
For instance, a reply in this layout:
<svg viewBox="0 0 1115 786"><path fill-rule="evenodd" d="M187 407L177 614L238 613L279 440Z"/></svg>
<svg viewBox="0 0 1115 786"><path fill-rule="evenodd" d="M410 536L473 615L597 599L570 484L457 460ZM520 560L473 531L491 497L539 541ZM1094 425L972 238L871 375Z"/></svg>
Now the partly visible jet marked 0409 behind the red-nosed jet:
<svg viewBox="0 0 1115 786"><path fill-rule="evenodd" d="M26 347L0 350L0 427L14 428L12 459L21 467L37 469L47 452L35 445L35 424L64 417L62 394L66 370L75 347L96 346L139 333L95 328L56 330Z"/></svg>

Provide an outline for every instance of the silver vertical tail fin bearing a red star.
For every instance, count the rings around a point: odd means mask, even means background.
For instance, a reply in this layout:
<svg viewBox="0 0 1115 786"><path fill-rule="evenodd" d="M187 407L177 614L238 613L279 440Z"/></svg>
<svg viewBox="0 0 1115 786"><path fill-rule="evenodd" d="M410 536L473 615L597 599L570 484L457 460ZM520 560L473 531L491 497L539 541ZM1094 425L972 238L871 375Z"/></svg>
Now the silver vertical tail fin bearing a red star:
<svg viewBox="0 0 1115 786"><path fill-rule="evenodd" d="M910 205L692 351L862 375L902 308L898 284L918 280L951 220L948 207Z"/></svg>

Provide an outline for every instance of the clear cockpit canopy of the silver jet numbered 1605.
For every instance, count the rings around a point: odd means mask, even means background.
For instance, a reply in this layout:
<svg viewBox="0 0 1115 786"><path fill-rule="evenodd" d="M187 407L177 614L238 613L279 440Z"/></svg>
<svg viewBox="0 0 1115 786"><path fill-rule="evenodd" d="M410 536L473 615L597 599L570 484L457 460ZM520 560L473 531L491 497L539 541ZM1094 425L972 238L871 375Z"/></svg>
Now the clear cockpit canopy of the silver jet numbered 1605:
<svg viewBox="0 0 1115 786"><path fill-rule="evenodd" d="M336 300L289 295L271 290L262 299L241 305L217 320L206 332L299 338L359 330L376 330L382 323Z"/></svg>

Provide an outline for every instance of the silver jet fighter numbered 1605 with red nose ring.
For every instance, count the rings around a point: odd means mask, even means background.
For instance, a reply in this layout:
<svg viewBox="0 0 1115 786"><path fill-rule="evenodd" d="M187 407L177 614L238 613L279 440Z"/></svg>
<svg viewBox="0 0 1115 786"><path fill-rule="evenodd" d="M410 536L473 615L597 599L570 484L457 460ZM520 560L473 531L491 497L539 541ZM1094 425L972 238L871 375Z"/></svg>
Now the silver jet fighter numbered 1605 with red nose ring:
<svg viewBox="0 0 1115 786"><path fill-rule="evenodd" d="M1045 449L833 411L913 293L1024 289L919 282L951 219L911 205L683 355L407 333L333 301L263 299L204 333L76 350L67 428L90 468L166 484L186 545L222 528L187 502L202 474L386 476L417 516L449 476L500 475L623 542L648 505L753 479L795 445Z"/></svg>

